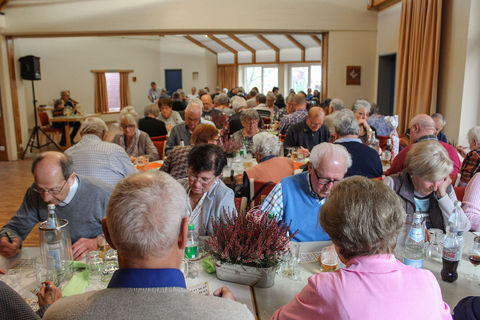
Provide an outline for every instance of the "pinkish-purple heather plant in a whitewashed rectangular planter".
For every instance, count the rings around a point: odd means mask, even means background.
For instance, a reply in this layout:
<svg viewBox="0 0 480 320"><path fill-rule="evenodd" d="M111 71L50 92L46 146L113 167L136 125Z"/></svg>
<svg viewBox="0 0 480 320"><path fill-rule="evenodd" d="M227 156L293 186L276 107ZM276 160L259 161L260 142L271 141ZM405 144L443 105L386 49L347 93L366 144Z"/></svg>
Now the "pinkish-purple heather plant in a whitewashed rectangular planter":
<svg viewBox="0 0 480 320"><path fill-rule="evenodd" d="M290 224L279 223L279 218L253 208L225 215L212 227L206 243L216 260L218 279L261 288L273 285L278 264L295 235L288 235Z"/></svg>

